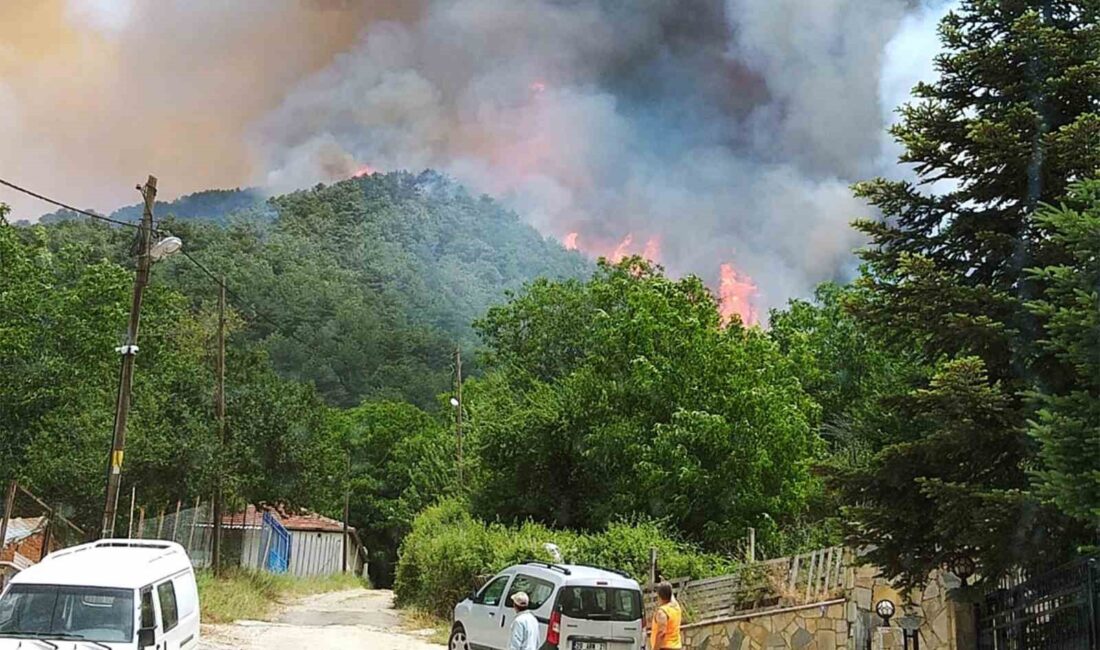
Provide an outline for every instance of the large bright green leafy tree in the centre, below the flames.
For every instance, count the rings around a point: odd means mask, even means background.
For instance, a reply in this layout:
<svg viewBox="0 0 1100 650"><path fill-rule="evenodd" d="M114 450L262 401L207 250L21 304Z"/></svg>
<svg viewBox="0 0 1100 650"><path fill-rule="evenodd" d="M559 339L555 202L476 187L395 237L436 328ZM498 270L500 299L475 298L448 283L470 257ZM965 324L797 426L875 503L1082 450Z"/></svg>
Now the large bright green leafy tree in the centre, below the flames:
<svg viewBox="0 0 1100 650"><path fill-rule="evenodd" d="M588 530L645 514L733 550L804 511L815 407L766 334L722 327L698 278L603 264L536 282L477 327L492 368L465 394L479 514Z"/></svg>

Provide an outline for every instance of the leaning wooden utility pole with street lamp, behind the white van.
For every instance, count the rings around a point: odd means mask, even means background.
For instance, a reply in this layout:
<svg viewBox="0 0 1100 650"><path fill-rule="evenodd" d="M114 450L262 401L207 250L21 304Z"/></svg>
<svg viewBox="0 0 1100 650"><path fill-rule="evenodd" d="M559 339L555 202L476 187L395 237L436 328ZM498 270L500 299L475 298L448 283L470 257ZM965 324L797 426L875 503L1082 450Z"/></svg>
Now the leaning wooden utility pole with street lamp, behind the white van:
<svg viewBox="0 0 1100 650"><path fill-rule="evenodd" d="M134 374L134 357L138 355L138 328L141 324L141 302L148 284L152 265L150 247L153 242L153 203L156 201L156 177L150 176L145 185L139 185L145 208L138 230L138 275L134 278L133 301L130 305L130 324L127 328L127 344L119 348L122 354L122 370L119 373L119 397L114 408L114 434L111 439L111 454L107 460L107 495L103 504L103 526L100 537L114 536L114 515L119 508L119 486L122 481L122 458L127 449L127 417L130 415L130 389Z"/></svg>

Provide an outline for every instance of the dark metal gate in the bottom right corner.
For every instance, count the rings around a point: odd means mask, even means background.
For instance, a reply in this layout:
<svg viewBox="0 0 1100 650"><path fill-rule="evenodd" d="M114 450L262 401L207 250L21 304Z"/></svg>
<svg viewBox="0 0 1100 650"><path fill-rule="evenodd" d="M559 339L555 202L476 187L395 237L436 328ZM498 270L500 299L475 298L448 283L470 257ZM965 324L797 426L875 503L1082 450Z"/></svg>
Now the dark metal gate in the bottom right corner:
<svg viewBox="0 0 1100 650"><path fill-rule="evenodd" d="M979 650L1100 648L1100 561L1078 560L978 606Z"/></svg>

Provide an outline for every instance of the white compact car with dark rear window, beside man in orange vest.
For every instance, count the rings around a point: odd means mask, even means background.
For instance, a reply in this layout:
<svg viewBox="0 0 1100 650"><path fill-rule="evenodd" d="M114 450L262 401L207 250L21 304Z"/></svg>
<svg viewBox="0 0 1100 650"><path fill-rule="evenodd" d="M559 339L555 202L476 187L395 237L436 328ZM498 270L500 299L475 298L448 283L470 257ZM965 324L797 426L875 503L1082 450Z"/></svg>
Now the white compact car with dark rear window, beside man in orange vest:
<svg viewBox="0 0 1100 650"><path fill-rule="evenodd" d="M645 647L641 587L625 573L527 562L509 566L454 607L450 650L504 650L527 592L543 650L640 650Z"/></svg>

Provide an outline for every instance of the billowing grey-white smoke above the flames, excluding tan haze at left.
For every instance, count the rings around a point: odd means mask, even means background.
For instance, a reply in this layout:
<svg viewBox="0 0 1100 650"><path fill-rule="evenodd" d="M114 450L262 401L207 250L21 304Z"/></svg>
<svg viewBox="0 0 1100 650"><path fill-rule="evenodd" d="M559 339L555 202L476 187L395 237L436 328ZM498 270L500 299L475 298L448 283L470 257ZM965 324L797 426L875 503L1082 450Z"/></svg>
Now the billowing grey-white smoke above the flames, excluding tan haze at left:
<svg viewBox="0 0 1100 650"><path fill-rule="evenodd" d="M806 295L859 243L888 45L931 25L905 0L684 4L449 0L371 25L253 132L260 180L338 177L302 164L321 146L343 175L435 167L582 249L659 238L674 273L732 260L765 307Z"/></svg>

